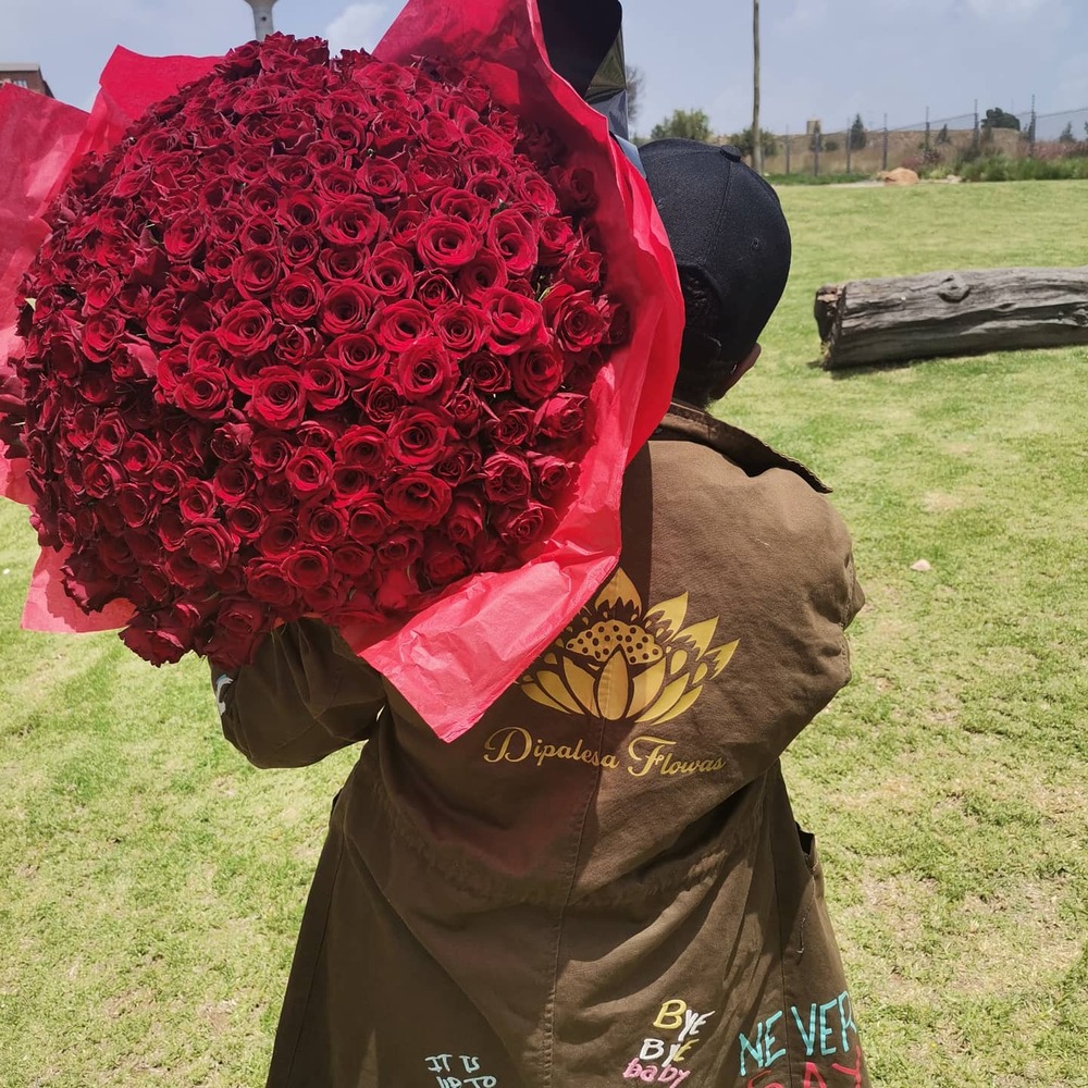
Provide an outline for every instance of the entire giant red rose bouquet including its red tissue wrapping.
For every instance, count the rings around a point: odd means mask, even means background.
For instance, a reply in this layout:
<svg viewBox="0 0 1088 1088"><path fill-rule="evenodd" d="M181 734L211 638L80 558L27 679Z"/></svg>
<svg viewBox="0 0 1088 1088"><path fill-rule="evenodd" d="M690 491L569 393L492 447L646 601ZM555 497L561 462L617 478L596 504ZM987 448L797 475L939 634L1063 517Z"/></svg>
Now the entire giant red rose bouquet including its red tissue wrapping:
<svg viewBox="0 0 1088 1088"><path fill-rule="evenodd" d="M320 616L452 737L607 573L675 279L512 7L511 37L416 0L380 59L282 35L119 54L82 133L36 131L28 267L0 223L0 493L42 546L32 626L236 666Z"/></svg>

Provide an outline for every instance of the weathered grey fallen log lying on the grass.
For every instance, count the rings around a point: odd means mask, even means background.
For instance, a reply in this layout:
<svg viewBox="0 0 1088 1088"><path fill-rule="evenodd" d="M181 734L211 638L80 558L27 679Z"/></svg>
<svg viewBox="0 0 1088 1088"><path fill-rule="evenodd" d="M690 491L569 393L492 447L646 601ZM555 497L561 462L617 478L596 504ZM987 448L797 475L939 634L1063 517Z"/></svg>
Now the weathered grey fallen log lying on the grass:
<svg viewBox="0 0 1088 1088"><path fill-rule="evenodd" d="M827 284L815 317L827 370L1088 344L1088 265Z"/></svg>

